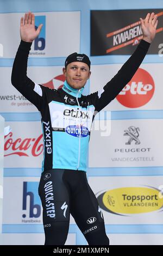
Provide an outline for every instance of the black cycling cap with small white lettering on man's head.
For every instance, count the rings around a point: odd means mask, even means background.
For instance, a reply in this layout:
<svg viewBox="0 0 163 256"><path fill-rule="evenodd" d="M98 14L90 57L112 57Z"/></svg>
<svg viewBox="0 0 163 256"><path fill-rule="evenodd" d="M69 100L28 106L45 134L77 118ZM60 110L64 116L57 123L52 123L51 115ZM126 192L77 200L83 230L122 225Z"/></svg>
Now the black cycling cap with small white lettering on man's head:
<svg viewBox="0 0 163 256"><path fill-rule="evenodd" d="M65 68L71 62L84 62L89 66L89 68L91 66L89 57L84 53L82 54L82 53L74 52L74 53L71 53L70 55L68 55L68 57L65 60Z"/></svg>

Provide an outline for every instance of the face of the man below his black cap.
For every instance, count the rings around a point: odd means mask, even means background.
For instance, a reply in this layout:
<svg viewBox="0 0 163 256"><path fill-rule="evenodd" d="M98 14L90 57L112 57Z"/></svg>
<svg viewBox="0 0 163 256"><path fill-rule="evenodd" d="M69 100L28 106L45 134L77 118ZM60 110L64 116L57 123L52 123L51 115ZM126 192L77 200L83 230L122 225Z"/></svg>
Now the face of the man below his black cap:
<svg viewBox="0 0 163 256"><path fill-rule="evenodd" d="M85 86L87 79L90 78L91 71L89 71L89 66L86 63L71 62L66 69L63 68L63 74L72 88L80 89Z"/></svg>

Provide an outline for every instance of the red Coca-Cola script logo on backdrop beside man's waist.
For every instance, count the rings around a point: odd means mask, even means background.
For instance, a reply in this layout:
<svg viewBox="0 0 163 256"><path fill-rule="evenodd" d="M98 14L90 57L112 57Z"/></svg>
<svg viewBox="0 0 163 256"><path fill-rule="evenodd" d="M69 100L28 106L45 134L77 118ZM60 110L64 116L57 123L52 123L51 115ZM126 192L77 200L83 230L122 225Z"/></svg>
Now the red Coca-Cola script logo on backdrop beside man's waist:
<svg viewBox="0 0 163 256"><path fill-rule="evenodd" d="M4 136L4 152L7 150L12 151L10 154L4 154L4 156L18 155L18 156L39 156L43 151L42 136L38 138L17 138L15 141L12 138L12 132L7 136Z"/></svg>

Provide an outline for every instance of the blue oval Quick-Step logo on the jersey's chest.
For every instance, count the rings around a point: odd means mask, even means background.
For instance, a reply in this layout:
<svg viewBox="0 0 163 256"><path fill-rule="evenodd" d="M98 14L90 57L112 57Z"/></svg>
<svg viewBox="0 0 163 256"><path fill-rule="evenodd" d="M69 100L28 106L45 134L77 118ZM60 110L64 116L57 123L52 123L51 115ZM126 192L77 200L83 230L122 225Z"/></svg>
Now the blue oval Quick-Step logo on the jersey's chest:
<svg viewBox="0 0 163 256"><path fill-rule="evenodd" d="M79 125L69 125L66 127L65 131L71 135L71 136L74 136L74 137L86 137L88 134L89 134L89 130L87 129L87 127L85 126L80 126ZM79 132L81 134L79 134Z"/></svg>

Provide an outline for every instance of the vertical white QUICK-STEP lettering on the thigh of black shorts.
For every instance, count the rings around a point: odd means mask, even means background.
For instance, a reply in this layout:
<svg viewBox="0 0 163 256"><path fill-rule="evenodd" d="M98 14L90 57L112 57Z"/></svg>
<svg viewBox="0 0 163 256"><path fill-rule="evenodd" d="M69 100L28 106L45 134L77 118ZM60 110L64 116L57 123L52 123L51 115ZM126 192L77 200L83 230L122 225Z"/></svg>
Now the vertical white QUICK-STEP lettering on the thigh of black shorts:
<svg viewBox="0 0 163 256"><path fill-rule="evenodd" d="M55 218L55 206L54 206L54 193L52 181L48 181L45 186L45 202L46 204L46 215L50 218Z"/></svg>

